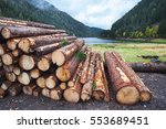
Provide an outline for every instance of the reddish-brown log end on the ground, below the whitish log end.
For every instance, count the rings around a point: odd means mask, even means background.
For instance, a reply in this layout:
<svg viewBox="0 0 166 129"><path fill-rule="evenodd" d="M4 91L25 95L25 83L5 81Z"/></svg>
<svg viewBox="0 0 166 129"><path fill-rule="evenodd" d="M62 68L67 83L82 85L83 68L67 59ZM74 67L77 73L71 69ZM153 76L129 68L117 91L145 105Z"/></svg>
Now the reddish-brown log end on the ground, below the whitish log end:
<svg viewBox="0 0 166 129"><path fill-rule="evenodd" d="M37 85L34 83L30 84L30 85L27 85L27 86L23 86L23 93L25 95L33 95L33 90L37 88Z"/></svg>

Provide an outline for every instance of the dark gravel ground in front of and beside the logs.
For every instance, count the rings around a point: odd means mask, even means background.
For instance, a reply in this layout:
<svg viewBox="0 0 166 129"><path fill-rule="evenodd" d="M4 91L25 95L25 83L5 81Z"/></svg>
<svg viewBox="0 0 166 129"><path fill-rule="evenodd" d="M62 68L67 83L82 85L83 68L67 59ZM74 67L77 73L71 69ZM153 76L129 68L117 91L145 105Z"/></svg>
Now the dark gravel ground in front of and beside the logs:
<svg viewBox="0 0 166 129"><path fill-rule="evenodd" d="M111 103L90 100L87 103L70 104L65 100L53 101L45 97L20 95L0 99L0 110L164 110L166 109L166 74L138 73L145 85L153 92L151 103L138 103L135 106L123 106Z"/></svg>

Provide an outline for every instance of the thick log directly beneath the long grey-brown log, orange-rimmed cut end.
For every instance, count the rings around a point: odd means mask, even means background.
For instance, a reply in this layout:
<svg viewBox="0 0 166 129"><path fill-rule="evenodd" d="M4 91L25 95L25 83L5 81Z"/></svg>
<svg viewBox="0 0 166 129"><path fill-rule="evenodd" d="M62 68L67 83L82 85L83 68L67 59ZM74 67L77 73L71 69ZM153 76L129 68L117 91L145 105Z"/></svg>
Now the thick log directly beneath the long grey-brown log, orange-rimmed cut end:
<svg viewBox="0 0 166 129"><path fill-rule="evenodd" d="M31 53L35 47L55 44L56 42L61 42L63 40L74 41L75 39L76 39L75 36L58 37L55 34L23 37L20 40L18 47L24 53Z"/></svg>

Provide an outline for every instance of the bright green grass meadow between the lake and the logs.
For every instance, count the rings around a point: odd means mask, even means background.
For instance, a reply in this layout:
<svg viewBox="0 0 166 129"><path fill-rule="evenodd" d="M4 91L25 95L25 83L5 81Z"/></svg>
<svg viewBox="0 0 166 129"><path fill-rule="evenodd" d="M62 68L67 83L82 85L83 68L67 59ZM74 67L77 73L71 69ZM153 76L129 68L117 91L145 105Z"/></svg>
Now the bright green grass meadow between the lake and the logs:
<svg viewBox="0 0 166 129"><path fill-rule="evenodd" d="M125 44L95 44L90 45L92 50L97 52L116 51L118 52L126 62L149 62L141 55L158 55L159 60L166 62L166 44L154 44L154 43L125 43Z"/></svg>

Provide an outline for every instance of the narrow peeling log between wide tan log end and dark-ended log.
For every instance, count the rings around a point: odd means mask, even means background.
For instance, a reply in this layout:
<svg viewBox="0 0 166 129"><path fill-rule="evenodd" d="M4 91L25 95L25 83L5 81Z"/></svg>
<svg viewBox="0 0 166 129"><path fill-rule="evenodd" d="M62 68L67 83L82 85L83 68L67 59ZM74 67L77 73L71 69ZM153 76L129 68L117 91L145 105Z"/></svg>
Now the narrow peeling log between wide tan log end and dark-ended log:
<svg viewBox="0 0 166 129"><path fill-rule="evenodd" d="M94 85L93 80L94 80L95 57L96 53L92 53L87 71L87 82L83 85L81 92L81 99L83 101L90 100L92 96L92 87Z"/></svg>

